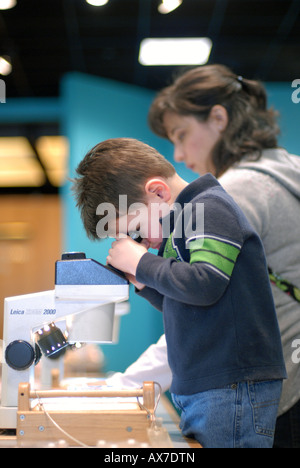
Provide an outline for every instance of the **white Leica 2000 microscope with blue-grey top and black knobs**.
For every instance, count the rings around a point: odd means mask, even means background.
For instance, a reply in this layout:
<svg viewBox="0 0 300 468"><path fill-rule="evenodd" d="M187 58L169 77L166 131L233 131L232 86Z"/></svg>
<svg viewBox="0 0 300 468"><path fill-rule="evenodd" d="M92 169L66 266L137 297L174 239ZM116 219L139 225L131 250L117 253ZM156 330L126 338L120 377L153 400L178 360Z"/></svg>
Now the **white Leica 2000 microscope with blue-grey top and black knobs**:
<svg viewBox="0 0 300 468"><path fill-rule="evenodd" d="M124 275L86 258L62 255L55 264L55 289L4 301L0 428L16 428L18 388L34 388L34 368L63 356L75 343L114 341L117 304L129 298Z"/></svg>

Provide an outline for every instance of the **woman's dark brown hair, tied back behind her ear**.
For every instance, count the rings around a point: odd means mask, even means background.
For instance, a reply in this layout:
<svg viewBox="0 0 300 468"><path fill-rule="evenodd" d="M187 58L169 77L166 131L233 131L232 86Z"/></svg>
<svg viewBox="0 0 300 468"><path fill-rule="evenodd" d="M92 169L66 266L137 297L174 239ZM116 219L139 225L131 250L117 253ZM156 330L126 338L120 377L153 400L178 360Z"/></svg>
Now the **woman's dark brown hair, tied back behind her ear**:
<svg viewBox="0 0 300 468"><path fill-rule="evenodd" d="M156 134L168 138L164 127L167 111L206 121L217 104L229 117L212 155L217 176L246 155L259 159L263 149L277 147L277 113L267 109L264 86L237 76L223 65L197 67L176 78L154 99L149 124Z"/></svg>

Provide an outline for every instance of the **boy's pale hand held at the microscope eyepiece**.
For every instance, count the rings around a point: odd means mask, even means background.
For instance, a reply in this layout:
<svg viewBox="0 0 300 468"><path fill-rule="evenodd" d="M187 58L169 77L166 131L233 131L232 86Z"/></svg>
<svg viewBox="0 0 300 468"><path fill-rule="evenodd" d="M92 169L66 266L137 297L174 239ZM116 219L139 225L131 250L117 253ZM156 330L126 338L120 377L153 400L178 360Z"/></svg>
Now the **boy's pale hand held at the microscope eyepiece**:
<svg viewBox="0 0 300 468"><path fill-rule="evenodd" d="M118 270L135 277L139 261L147 251L143 242L138 244L129 236L119 238L112 243L106 261Z"/></svg>

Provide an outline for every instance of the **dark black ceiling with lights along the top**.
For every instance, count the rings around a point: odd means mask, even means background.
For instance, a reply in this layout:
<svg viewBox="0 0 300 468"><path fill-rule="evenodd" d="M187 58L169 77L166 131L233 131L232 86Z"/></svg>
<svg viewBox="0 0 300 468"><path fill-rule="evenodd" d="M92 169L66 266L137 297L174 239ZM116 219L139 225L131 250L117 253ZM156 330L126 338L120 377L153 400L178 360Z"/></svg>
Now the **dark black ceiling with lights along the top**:
<svg viewBox="0 0 300 468"><path fill-rule="evenodd" d="M300 78L300 0L183 0L162 15L160 0L18 0L0 12L0 56L9 97L58 96L69 71L160 89L176 67L138 63L145 37L210 37L209 63L264 81Z"/></svg>

